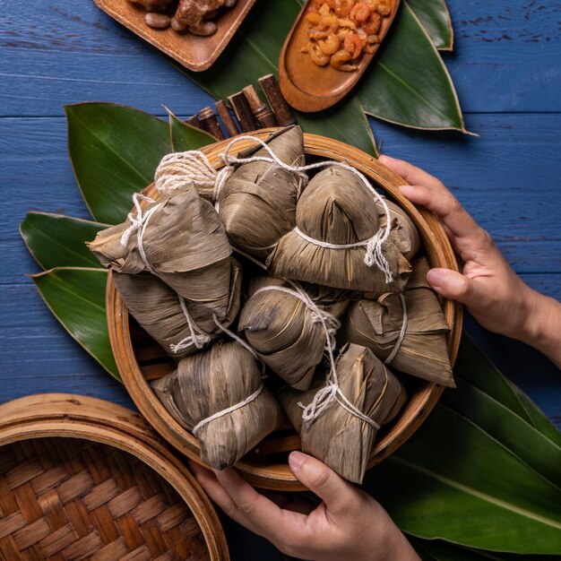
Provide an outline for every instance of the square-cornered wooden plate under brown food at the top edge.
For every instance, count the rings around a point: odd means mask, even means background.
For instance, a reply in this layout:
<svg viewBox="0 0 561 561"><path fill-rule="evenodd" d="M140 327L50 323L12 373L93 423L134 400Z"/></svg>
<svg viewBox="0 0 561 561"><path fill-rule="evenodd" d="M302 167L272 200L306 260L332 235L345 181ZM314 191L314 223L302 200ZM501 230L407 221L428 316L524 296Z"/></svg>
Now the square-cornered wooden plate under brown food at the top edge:
<svg viewBox="0 0 561 561"><path fill-rule="evenodd" d="M177 33L171 28L154 30L148 27L144 23L144 10L129 0L93 1L117 22L194 72L202 72L214 64L255 4L255 0L237 0L233 8L220 10L214 20L218 26L216 33L201 37L188 31Z"/></svg>

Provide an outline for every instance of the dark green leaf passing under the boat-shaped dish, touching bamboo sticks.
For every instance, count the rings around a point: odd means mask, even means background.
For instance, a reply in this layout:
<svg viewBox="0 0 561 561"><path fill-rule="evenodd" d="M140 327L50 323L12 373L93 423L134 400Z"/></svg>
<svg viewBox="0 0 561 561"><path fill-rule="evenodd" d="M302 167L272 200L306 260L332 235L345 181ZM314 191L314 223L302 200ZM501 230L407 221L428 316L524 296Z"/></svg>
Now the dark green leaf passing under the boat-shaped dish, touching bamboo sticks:
<svg viewBox="0 0 561 561"><path fill-rule="evenodd" d="M261 2L246 17L227 52L211 68L193 73L177 68L216 99L228 96L265 74L277 73L280 48L300 10L297 0ZM356 97L348 96L335 108L321 113L294 111L306 133L322 134L375 154L372 129Z"/></svg>

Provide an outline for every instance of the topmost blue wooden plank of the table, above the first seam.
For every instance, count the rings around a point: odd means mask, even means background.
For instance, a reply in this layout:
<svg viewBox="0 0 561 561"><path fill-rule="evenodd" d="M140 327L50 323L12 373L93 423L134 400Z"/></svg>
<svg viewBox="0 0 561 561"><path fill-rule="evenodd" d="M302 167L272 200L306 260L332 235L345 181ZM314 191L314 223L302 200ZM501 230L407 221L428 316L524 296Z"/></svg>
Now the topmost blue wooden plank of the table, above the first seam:
<svg viewBox="0 0 561 561"><path fill-rule="evenodd" d="M465 111L561 110L559 3L451 0L449 6L456 49L445 59ZM1 115L60 115L61 104L75 99L111 99L152 112L165 103L189 114L209 104L87 0L36 0L32 10L10 3L0 18L0 48Z"/></svg>

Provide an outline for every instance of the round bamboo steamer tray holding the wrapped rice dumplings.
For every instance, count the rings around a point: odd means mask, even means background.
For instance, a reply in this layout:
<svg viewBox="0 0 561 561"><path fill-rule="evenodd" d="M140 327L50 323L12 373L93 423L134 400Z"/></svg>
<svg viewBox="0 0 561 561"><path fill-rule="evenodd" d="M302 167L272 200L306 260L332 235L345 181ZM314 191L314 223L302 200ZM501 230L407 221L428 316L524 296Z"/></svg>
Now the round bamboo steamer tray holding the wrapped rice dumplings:
<svg viewBox="0 0 561 561"><path fill-rule="evenodd" d="M254 135L266 138L275 130L277 129L263 129ZM219 155L228 142L231 142L231 139L216 142L202 149L215 168L220 168L222 165ZM442 224L431 212L417 208L400 193L398 186L405 183L401 177L367 153L343 142L315 134L305 134L304 143L307 155L326 160L344 160L362 171L375 185L384 189L395 203L409 213L416 224L431 266L458 270L453 248L444 233ZM245 150L251 145L251 141L240 141L236 145L236 151ZM147 187L145 193L152 198L158 198L153 185ZM462 306L448 300L443 300L442 304L446 322L451 329L448 350L454 362L462 334ZM151 340L132 318L129 318L126 307L115 289L111 274L108 275L107 310L109 338L117 367L134 403L151 426L170 444L194 462L202 463L196 438L169 415L149 385L151 380L171 372L174 363L160 346ZM392 425L380 431L368 467L384 460L419 428L428 413L435 407L443 391L442 386L423 380L411 386L410 401L400 417ZM300 441L294 429L289 425L281 427L265 438L254 451L247 453L240 462L237 462L236 467L256 487L302 490L303 487L292 474L287 462L287 453L297 450L299 445Z"/></svg>

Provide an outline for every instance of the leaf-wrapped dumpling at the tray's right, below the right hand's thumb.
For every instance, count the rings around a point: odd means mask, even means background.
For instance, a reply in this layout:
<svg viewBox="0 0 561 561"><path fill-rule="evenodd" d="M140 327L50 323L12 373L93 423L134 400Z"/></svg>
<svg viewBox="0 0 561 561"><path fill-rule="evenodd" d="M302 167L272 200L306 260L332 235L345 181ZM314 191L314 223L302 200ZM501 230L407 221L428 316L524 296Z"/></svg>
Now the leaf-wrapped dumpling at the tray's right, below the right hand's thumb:
<svg viewBox="0 0 561 561"><path fill-rule="evenodd" d="M446 345L450 331L436 293L427 283L426 258L413 263L403 295L389 292L377 300L350 304L339 341L365 345L401 372L454 386Z"/></svg>

